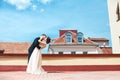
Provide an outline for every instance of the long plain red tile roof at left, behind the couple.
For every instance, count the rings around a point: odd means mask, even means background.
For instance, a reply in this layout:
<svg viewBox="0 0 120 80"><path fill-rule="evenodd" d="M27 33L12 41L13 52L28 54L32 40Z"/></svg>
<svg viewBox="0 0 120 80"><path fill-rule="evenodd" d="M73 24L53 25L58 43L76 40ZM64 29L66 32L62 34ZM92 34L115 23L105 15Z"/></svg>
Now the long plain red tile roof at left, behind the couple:
<svg viewBox="0 0 120 80"><path fill-rule="evenodd" d="M0 42L0 50L5 50L4 54L27 54L30 42Z"/></svg>

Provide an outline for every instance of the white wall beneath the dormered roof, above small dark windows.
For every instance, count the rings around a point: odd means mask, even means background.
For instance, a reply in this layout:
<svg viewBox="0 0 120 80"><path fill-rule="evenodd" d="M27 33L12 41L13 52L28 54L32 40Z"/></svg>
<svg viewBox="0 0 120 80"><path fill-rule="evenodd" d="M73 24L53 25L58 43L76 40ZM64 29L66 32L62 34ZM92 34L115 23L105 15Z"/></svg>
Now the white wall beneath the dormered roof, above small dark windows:
<svg viewBox="0 0 120 80"><path fill-rule="evenodd" d="M51 46L54 50L54 54L62 51L63 54L71 54L72 51L75 51L76 54L83 54L84 51L87 51L88 54L98 54L98 48L96 46ZM52 53L51 51L49 53Z"/></svg>

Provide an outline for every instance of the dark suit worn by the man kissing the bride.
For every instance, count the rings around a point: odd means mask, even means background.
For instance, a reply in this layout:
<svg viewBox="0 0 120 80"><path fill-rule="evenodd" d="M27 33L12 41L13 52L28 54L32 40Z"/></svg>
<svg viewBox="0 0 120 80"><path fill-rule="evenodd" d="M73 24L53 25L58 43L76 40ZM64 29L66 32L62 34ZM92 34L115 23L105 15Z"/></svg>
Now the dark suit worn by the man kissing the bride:
<svg viewBox="0 0 120 80"><path fill-rule="evenodd" d="M33 50L35 49L35 47L40 49L39 42L38 42L39 39L40 39L40 37L35 38L35 40L33 41L32 45L28 49L28 62L29 62L30 56L31 56Z"/></svg>

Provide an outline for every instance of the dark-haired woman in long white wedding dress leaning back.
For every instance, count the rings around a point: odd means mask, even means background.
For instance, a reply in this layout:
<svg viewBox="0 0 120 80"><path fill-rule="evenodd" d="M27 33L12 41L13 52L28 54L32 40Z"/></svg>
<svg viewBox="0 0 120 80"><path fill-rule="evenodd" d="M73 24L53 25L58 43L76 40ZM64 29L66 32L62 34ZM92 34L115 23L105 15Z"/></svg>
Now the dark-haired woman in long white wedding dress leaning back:
<svg viewBox="0 0 120 80"><path fill-rule="evenodd" d="M41 54L41 50L43 48L45 48L48 43L50 43L50 38L49 37L47 37L46 39L42 40L39 43L39 46L41 47L40 49L35 47L35 49L32 52L32 55L30 57L29 63L27 65L27 69L26 69L27 73L31 73L31 74L44 74L44 73L47 73L42 68L42 54Z"/></svg>

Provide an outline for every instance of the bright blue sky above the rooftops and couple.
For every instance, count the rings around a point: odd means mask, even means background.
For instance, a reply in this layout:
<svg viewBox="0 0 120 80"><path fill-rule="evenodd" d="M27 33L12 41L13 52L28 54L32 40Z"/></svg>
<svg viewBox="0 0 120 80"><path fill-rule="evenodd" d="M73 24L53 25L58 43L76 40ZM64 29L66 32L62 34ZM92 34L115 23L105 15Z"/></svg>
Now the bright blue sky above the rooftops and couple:
<svg viewBox="0 0 120 80"><path fill-rule="evenodd" d="M111 46L107 0L0 0L0 42L57 38L62 29L107 38Z"/></svg>

